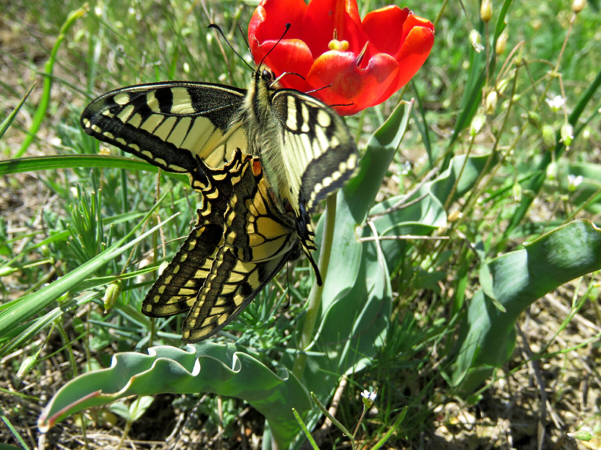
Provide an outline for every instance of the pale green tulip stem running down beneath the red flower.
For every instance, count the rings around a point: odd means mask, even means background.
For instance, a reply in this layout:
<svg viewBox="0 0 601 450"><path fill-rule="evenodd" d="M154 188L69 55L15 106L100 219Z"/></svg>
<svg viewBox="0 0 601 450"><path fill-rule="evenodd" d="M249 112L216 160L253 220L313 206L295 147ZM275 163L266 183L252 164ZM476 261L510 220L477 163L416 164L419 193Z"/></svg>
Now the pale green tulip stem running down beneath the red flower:
<svg viewBox="0 0 601 450"><path fill-rule="evenodd" d="M322 245L319 250L319 262L317 266L319 273L322 275L322 286L317 283L313 284L311 293L308 298L307 316L305 317L305 323L301 332L301 340L298 344L300 352L296 356L292 373L301 379L302 373L305 370L305 364L307 363L307 354L302 353L309 349L311 343L313 343L313 329L315 328L315 322L317 320L317 314L319 313L319 307L322 304L322 293L323 286L326 283L328 274L328 266L330 263L330 254L332 253L332 242L334 241L334 222L336 218L336 194L332 194L326 199L326 211L325 221L323 223L323 238Z"/></svg>

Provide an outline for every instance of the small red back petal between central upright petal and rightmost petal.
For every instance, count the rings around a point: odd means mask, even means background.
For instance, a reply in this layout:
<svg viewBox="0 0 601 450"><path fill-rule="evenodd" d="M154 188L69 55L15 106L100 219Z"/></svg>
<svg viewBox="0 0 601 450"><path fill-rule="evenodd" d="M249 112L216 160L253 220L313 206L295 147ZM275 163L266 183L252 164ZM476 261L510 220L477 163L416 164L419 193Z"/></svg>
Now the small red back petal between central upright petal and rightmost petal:
<svg viewBox="0 0 601 450"><path fill-rule="evenodd" d="M372 54L388 53L395 56L403 42L403 22L409 15L409 9L390 5L371 11L363 19L363 30L370 41Z"/></svg>

